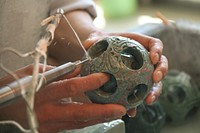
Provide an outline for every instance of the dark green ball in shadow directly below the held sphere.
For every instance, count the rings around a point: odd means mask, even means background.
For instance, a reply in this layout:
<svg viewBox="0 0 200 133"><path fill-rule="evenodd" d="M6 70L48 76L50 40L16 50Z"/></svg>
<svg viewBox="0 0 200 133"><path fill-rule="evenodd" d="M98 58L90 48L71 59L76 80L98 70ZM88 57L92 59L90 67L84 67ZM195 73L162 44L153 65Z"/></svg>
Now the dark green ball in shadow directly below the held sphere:
<svg viewBox="0 0 200 133"><path fill-rule="evenodd" d="M165 112L159 102L153 105L140 105L137 114L131 118L122 117L126 133L159 133L165 124Z"/></svg>

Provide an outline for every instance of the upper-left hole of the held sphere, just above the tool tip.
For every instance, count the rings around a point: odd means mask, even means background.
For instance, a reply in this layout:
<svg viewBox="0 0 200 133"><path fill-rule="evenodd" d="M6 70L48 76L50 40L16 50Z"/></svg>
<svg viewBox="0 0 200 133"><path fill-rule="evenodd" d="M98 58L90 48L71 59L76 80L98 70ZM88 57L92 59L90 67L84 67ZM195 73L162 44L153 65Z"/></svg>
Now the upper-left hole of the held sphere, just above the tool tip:
<svg viewBox="0 0 200 133"><path fill-rule="evenodd" d="M108 45L109 44L106 40L101 40L97 42L88 50L90 57L92 59L99 57L101 54L103 54L107 50Z"/></svg>

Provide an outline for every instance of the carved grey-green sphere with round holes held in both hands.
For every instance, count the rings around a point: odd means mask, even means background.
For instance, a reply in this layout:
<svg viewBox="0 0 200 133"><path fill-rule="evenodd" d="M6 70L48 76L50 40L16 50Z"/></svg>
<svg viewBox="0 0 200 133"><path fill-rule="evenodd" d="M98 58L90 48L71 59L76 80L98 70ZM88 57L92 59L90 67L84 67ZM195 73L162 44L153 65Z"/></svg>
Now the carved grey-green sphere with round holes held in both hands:
<svg viewBox="0 0 200 133"><path fill-rule="evenodd" d="M102 39L88 49L91 61L85 63L81 75L104 72L110 80L100 88L87 92L95 103L118 103L127 109L140 105L153 86L148 51L138 42L119 36Z"/></svg>

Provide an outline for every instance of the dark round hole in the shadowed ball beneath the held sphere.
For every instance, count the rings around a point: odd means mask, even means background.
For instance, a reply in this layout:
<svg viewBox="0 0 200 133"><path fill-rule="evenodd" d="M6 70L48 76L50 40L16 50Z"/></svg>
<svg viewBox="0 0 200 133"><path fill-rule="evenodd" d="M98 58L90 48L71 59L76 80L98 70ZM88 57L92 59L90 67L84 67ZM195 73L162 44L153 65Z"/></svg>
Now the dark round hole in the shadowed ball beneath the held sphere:
<svg viewBox="0 0 200 133"><path fill-rule="evenodd" d="M153 106L145 106L142 116L148 123L154 123L157 120L156 109Z"/></svg>

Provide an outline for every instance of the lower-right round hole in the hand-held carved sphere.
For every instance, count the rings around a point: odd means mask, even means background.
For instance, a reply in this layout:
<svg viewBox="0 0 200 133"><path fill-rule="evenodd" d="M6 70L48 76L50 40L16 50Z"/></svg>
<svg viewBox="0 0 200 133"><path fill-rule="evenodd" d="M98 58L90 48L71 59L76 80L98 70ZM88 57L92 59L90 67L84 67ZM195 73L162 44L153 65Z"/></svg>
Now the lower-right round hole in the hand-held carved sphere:
<svg viewBox="0 0 200 133"><path fill-rule="evenodd" d="M144 96L147 94L147 85L145 84L139 84L137 85L134 90L130 93L128 96L128 102L129 103L136 103L144 98Z"/></svg>

